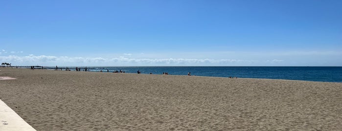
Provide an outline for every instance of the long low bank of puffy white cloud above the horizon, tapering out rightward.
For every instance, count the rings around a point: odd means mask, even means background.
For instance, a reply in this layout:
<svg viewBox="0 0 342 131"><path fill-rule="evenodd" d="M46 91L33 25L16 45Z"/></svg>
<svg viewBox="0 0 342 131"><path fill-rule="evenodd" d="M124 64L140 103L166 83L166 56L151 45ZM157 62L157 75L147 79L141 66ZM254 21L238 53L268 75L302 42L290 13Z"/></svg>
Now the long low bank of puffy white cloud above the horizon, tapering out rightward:
<svg viewBox="0 0 342 131"><path fill-rule="evenodd" d="M63 65L63 66L230 66L231 64L249 64L253 61L249 60L229 60L229 59L130 59L130 58L83 58L83 57L67 57L67 56L35 56L30 54L28 56L0 56L0 61L17 63L13 65ZM255 61L254 61L255 62Z"/></svg>

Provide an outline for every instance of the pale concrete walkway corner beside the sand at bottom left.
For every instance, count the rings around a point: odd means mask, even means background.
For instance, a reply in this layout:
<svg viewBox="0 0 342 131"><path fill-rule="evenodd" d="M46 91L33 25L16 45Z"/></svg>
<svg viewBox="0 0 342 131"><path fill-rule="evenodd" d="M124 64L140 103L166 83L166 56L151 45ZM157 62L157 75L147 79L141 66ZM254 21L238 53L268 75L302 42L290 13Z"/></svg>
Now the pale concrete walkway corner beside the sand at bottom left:
<svg viewBox="0 0 342 131"><path fill-rule="evenodd" d="M0 100L0 131L36 131Z"/></svg>

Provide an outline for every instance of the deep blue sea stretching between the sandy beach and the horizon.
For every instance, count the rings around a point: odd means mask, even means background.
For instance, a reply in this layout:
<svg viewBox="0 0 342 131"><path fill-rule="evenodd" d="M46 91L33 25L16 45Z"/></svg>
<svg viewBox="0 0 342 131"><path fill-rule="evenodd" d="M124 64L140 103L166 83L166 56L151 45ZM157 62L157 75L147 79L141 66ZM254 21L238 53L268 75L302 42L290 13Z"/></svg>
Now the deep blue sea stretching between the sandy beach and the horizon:
<svg viewBox="0 0 342 131"><path fill-rule="evenodd" d="M55 67L49 67L51 69ZM66 68L66 67L59 67ZM75 67L68 67L75 70ZM78 67L84 70L85 67ZM211 77L238 77L284 79L317 82L342 82L342 66L91 66L93 72L125 71L126 73L191 75Z"/></svg>

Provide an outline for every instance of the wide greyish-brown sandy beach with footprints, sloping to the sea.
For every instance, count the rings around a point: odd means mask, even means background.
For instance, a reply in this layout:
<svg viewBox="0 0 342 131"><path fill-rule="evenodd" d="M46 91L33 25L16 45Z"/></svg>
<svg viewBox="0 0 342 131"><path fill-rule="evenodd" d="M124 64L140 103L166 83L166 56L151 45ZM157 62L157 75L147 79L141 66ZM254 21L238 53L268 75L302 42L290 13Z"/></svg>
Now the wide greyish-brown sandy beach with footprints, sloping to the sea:
<svg viewBox="0 0 342 131"><path fill-rule="evenodd" d="M2 68L37 131L342 131L342 83ZM319 76L318 76L319 77Z"/></svg>

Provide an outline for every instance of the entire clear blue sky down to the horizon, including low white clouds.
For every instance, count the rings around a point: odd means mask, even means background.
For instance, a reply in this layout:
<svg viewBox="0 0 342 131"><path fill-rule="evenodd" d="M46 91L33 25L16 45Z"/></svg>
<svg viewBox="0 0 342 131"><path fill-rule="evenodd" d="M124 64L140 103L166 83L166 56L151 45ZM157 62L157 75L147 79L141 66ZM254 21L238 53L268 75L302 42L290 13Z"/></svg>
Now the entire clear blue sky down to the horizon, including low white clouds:
<svg viewBox="0 0 342 131"><path fill-rule="evenodd" d="M342 0L0 0L12 66L342 66Z"/></svg>

